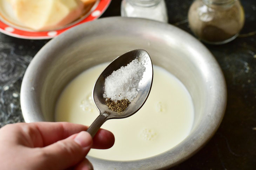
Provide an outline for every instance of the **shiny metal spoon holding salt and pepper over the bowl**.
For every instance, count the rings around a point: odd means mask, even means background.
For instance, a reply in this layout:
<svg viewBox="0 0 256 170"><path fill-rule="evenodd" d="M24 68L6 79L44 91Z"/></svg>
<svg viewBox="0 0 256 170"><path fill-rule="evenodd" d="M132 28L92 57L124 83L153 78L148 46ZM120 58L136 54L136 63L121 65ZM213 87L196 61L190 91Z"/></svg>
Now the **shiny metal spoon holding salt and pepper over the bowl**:
<svg viewBox="0 0 256 170"><path fill-rule="evenodd" d="M123 111L121 114L117 114L116 112L110 110L105 104L105 98L103 98L105 78L109 76L113 71L120 69L121 66L126 66L134 59L138 59L139 61L145 59L146 63L144 64L144 66L146 70L144 71L143 78L139 83L139 91L137 96L132 100L132 102L129 104L125 111ZM93 99L97 108L99 109L100 115L87 129L87 132L89 132L90 135L94 137L94 135L97 133L97 131L100 129L101 125L105 121L109 119L127 118L136 113L146 102L149 92L151 90L152 81L153 65L147 51L142 49L132 50L114 59L114 61L110 63L107 68L101 73L94 85Z"/></svg>

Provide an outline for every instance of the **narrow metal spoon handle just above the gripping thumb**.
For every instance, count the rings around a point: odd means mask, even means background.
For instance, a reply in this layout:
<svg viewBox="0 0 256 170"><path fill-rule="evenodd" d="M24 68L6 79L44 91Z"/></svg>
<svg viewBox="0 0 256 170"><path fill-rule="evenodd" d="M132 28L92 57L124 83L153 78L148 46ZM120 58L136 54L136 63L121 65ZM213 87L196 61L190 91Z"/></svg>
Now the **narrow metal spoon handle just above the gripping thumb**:
<svg viewBox="0 0 256 170"><path fill-rule="evenodd" d="M98 132L100 129L101 125L107 120L107 117L109 114L107 113L102 113L100 114L92 123L92 125L87 129L87 132L94 137L94 135Z"/></svg>

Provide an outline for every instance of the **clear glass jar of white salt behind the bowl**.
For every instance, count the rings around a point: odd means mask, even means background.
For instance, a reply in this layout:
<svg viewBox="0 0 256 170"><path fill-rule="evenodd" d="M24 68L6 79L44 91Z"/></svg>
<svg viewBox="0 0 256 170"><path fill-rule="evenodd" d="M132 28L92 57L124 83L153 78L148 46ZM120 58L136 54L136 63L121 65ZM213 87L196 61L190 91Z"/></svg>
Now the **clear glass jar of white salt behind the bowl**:
<svg viewBox="0 0 256 170"><path fill-rule="evenodd" d="M121 16L168 22L164 0L122 0Z"/></svg>

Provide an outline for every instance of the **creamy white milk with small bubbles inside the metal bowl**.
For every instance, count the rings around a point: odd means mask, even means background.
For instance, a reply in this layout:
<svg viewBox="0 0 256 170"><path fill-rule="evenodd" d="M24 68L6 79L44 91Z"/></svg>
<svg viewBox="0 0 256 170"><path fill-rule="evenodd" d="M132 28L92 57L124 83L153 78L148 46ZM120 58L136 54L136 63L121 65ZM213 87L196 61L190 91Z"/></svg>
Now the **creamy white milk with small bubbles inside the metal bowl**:
<svg viewBox="0 0 256 170"><path fill-rule="evenodd" d="M92 101L94 83L107 64L94 66L76 77L62 92L56 121L90 125L99 112ZM107 160L137 160L167 151L184 140L193 125L194 107L184 85L154 65L153 85L143 107L124 119L106 121L101 128L115 135L112 148L91 149L90 156Z"/></svg>

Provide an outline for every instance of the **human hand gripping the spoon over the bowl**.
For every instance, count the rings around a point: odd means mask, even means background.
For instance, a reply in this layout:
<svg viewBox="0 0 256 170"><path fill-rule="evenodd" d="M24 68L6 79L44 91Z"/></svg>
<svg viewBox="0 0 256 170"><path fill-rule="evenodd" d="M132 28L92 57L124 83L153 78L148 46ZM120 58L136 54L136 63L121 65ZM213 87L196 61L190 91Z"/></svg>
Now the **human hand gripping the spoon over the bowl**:
<svg viewBox="0 0 256 170"><path fill-rule="evenodd" d="M67 122L9 124L0 129L2 170L93 169L85 158L90 148L108 149L114 135L100 129L95 137L86 126Z"/></svg>

